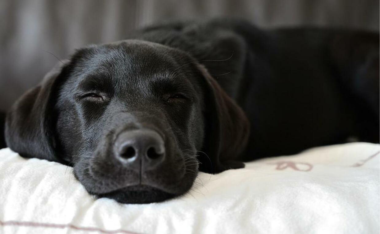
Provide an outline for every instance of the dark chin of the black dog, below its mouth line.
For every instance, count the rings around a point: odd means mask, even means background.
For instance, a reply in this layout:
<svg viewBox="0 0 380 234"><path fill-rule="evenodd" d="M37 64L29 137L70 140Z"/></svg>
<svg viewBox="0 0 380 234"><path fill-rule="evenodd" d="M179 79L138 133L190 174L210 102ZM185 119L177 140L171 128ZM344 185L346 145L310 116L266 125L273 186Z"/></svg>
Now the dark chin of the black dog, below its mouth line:
<svg viewBox="0 0 380 234"><path fill-rule="evenodd" d="M161 202L179 196L179 194L167 193L148 185L133 185L109 193L94 195L97 198L110 198L127 204Z"/></svg>

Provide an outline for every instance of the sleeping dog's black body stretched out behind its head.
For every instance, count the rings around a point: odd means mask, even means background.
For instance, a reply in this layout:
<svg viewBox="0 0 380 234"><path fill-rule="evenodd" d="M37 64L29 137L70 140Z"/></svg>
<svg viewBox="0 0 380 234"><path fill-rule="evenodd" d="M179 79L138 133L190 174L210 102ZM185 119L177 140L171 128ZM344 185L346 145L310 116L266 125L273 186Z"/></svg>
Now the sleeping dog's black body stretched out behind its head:
<svg viewBox="0 0 380 234"><path fill-rule="evenodd" d="M179 48L206 66L250 121L245 160L349 137L378 142L376 33L263 31L217 20L147 28L135 37Z"/></svg>

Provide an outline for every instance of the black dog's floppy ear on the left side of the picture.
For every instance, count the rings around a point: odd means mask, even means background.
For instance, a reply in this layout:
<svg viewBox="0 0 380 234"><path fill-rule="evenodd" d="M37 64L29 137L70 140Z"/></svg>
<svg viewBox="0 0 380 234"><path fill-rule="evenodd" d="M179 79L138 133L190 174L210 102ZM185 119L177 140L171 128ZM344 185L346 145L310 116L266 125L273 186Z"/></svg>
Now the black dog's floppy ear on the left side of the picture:
<svg viewBox="0 0 380 234"><path fill-rule="evenodd" d="M22 157L61 162L54 152L52 110L57 77L66 63L60 62L49 71L41 84L22 95L6 115L6 144Z"/></svg>

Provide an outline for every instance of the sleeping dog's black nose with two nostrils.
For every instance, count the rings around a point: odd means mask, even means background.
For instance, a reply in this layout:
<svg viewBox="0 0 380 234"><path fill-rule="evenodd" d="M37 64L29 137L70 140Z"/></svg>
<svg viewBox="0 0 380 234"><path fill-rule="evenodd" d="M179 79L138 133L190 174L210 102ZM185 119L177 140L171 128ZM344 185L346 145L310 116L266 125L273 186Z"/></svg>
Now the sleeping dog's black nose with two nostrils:
<svg viewBox="0 0 380 234"><path fill-rule="evenodd" d="M150 170L157 167L165 157L162 137L149 129L125 131L116 139L115 155L134 170Z"/></svg>

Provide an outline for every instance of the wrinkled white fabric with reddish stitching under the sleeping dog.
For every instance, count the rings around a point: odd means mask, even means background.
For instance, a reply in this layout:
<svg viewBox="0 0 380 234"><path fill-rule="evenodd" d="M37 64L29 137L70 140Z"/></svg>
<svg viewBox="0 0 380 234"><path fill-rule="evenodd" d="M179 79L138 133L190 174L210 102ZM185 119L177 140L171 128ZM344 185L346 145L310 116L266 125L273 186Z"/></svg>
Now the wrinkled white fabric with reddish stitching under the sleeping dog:
<svg viewBox="0 0 380 234"><path fill-rule="evenodd" d="M119 204L93 199L67 166L3 149L0 233L379 233L378 144L319 147L198 178L180 198Z"/></svg>

